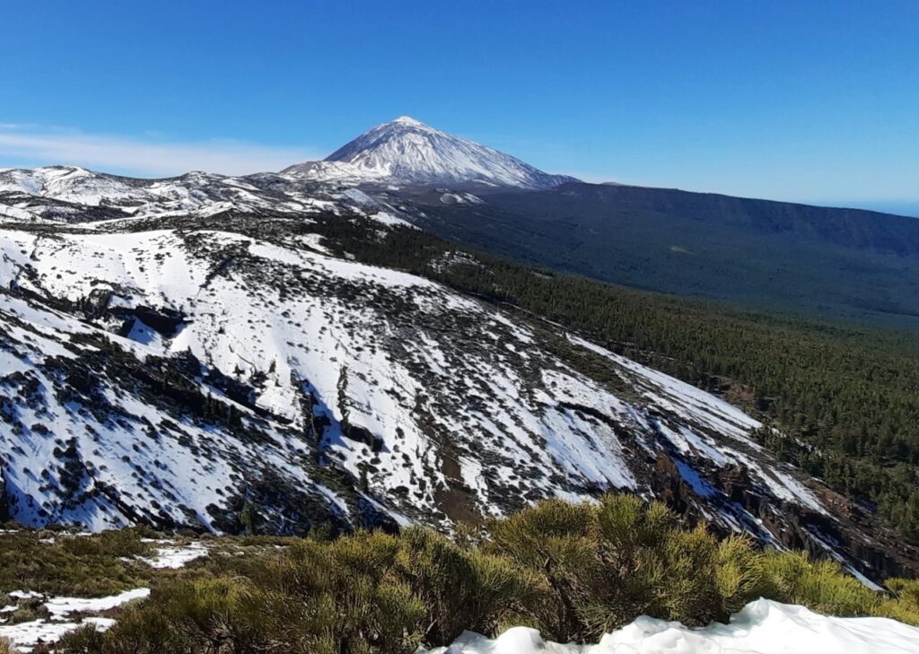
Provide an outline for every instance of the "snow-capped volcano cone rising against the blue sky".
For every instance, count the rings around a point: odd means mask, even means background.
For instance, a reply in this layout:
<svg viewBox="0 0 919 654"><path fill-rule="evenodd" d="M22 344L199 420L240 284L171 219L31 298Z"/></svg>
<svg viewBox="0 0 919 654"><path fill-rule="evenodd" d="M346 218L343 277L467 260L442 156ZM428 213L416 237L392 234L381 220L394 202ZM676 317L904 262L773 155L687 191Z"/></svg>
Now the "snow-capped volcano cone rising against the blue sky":
<svg viewBox="0 0 919 654"><path fill-rule="evenodd" d="M391 186L544 188L574 181L567 175L543 173L509 154L435 130L409 116L364 132L321 162L293 165L282 174Z"/></svg>

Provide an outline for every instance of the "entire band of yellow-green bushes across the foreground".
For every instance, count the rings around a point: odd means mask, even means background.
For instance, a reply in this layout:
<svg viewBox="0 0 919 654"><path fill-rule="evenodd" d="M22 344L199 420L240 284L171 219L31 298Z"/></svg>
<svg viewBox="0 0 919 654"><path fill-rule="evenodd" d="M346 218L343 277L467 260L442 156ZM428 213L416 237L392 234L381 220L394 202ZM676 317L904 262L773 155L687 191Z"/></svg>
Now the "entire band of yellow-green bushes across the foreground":
<svg viewBox="0 0 919 654"><path fill-rule="evenodd" d="M541 502L457 539L411 528L290 543L225 558L213 579L165 581L111 630L76 631L59 652L411 654L512 625L596 641L639 615L725 621L759 597L919 624L919 581L872 592L834 562L719 540L626 495Z"/></svg>

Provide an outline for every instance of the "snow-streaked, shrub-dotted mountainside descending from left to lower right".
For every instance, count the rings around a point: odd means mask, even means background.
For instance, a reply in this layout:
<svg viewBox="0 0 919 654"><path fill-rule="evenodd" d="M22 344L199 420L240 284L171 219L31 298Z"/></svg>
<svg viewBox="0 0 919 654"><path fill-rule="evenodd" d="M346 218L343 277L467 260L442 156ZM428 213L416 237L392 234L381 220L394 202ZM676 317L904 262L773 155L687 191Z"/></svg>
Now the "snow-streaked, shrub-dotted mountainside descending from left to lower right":
<svg viewBox="0 0 919 654"><path fill-rule="evenodd" d="M919 561L754 442L753 416L432 281L491 273L413 229L404 198L289 174L2 175L0 517L448 529L630 490L871 577ZM399 270L419 247L424 268Z"/></svg>

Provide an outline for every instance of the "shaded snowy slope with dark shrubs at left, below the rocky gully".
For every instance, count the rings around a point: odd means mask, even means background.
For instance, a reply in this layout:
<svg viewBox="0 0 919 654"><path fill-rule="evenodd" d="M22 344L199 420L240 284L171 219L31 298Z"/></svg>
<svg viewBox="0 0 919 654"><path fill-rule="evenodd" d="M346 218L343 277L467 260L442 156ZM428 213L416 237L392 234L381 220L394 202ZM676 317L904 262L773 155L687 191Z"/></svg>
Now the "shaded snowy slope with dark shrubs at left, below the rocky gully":
<svg viewBox="0 0 919 654"><path fill-rule="evenodd" d="M306 473L295 434L260 423L263 436L252 441L170 412L153 383L127 387L151 348L8 295L0 320L0 513L30 526L217 528L217 507L244 492L256 465L277 471L301 499L329 495Z"/></svg>

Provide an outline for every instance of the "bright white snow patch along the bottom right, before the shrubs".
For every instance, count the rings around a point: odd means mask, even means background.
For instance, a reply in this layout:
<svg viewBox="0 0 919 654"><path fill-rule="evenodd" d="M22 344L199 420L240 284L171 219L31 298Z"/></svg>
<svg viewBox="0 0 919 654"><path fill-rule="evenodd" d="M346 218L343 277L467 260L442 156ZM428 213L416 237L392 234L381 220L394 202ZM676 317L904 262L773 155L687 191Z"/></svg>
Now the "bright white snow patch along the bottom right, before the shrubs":
<svg viewBox="0 0 919 654"><path fill-rule="evenodd" d="M793 604L760 599L730 625L692 629L642 616L599 645L546 642L525 626L491 640L467 632L449 648L426 654L916 654L919 627L878 617L828 617ZM418 654L425 654L419 650Z"/></svg>

